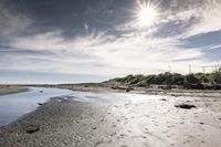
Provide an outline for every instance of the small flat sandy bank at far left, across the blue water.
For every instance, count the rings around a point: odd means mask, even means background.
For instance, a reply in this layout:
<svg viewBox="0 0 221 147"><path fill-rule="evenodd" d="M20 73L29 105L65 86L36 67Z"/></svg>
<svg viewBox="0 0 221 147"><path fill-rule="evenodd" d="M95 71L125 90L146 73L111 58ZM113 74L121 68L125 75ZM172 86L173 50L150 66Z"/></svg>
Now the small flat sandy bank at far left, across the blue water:
<svg viewBox="0 0 221 147"><path fill-rule="evenodd" d="M0 95L21 93L29 91L28 87L17 85L0 85Z"/></svg>

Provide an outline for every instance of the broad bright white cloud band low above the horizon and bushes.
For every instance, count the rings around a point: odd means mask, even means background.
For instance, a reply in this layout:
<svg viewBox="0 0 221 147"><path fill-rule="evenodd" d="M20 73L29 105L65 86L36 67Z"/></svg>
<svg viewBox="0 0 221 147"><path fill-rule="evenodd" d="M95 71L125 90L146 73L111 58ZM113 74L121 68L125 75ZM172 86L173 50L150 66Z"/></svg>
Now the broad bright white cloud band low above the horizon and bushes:
<svg viewBox="0 0 221 147"><path fill-rule="evenodd" d="M105 32L65 40L61 31L18 38L13 48L50 51L53 55L20 55L10 69L56 73L124 75L129 73L187 72L188 64L206 64L200 49L179 48L173 38L136 34L116 38ZM11 56L12 57L12 56ZM194 60L192 60L194 59ZM1 66L2 67L2 66Z"/></svg>

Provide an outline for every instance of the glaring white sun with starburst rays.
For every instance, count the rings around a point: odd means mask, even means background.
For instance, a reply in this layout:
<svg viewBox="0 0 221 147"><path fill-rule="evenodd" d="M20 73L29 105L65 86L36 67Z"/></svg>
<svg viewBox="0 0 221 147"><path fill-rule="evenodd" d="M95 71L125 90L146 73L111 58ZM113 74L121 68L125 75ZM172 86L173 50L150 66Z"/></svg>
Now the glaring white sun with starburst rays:
<svg viewBox="0 0 221 147"><path fill-rule="evenodd" d="M136 13L136 25L139 28L149 28L158 21L159 11L157 4L154 6L149 2L138 2Z"/></svg>

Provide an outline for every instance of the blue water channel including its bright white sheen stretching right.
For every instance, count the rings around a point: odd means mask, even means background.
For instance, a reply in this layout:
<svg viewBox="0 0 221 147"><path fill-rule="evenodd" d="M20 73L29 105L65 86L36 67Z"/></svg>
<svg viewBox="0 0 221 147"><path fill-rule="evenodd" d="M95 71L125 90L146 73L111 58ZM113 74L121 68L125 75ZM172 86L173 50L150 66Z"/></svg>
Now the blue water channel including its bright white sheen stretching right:
<svg viewBox="0 0 221 147"><path fill-rule="evenodd" d="M110 103L117 101L117 104L120 104L120 102L124 104L125 101L141 103L165 96L127 93L73 92L61 88L31 87L29 92L0 96L0 126L7 125L22 115L34 111L39 106L38 103L44 103L51 97L61 102L78 101Z"/></svg>

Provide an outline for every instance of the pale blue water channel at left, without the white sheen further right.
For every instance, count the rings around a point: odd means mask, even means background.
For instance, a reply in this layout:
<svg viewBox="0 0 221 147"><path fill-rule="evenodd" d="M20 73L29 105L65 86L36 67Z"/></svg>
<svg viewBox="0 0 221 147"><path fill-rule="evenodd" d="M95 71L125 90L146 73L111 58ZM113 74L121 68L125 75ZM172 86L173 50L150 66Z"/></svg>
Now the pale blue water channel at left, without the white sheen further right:
<svg viewBox="0 0 221 147"><path fill-rule="evenodd" d="M38 103L44 103L50 97L69 95L72 92L61 88L31 87L29 92L0 96L0 126L7 125L23 114L38 107Z"/></svg>

